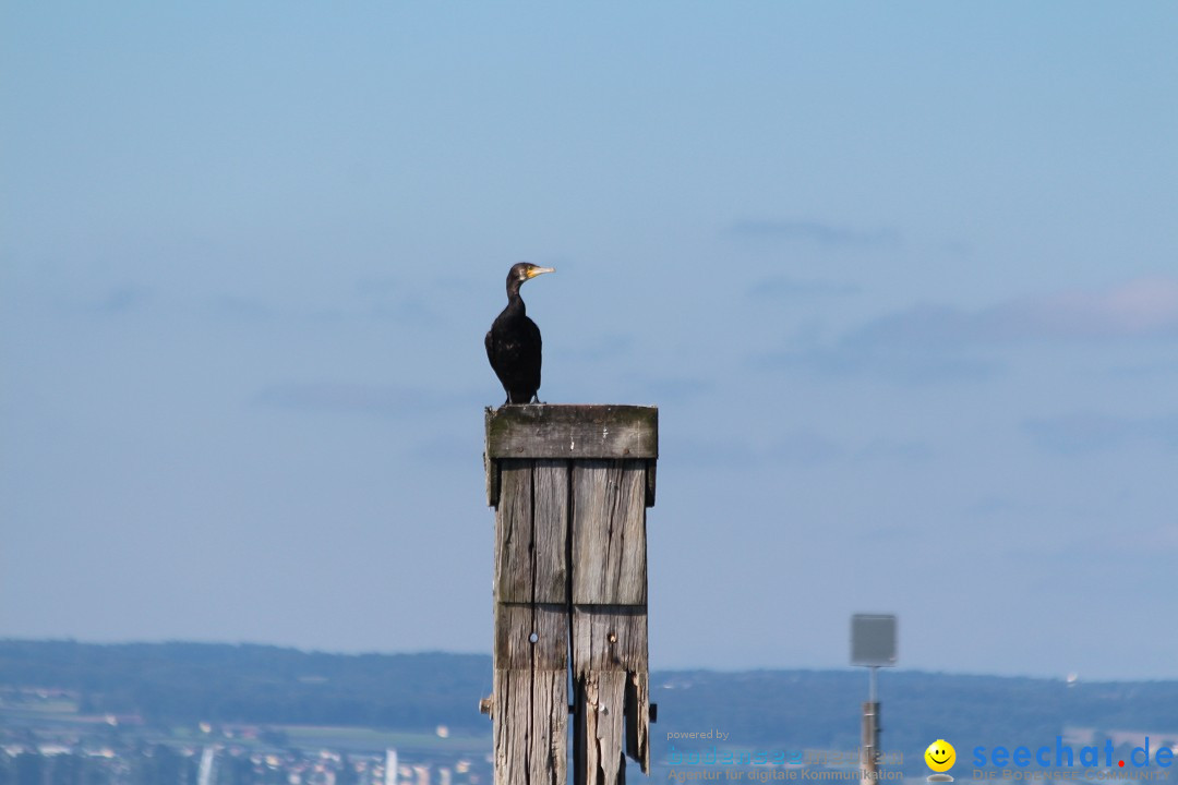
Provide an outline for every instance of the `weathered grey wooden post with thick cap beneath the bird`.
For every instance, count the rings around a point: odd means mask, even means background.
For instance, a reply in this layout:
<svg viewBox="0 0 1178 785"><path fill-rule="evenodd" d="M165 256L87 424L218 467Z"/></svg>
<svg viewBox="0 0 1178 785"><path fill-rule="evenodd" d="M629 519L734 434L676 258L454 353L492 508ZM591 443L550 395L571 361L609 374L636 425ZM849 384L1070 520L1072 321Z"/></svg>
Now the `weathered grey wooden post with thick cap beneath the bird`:
<svg viewBox="0 0 1178 785"><path fill-rule="evenodd" d="M653 406L487 410L497 785L567 781L570 710L574 783L624 783L626 754L649 771L646 508L657 458Z"/></svg>

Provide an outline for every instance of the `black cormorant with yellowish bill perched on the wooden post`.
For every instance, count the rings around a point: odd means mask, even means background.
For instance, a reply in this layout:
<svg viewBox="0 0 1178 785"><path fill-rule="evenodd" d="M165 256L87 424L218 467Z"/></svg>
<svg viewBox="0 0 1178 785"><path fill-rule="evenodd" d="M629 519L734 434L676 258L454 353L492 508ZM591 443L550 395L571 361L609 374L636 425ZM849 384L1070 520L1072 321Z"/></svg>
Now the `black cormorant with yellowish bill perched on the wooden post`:
<svg viewBox="0 0 1178 785"><path fill-rule="evenodd" d="M507 404L530 404L540 390L540 327L528 318L519 297L519 285L552 267L537 267L527 261L512 265L508 273L508 307L503 308L487 332L487 359L508 393Z"/></svg>

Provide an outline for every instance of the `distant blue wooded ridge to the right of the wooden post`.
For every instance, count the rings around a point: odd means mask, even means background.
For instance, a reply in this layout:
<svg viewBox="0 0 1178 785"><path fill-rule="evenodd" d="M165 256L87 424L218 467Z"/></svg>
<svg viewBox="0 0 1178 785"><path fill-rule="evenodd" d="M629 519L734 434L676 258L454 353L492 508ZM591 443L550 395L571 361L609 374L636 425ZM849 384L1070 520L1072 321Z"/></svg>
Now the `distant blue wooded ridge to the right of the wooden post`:
<svg viewBox="0 0 1178 785"><path fill-rule="evenodd" d="M664 723L690 731L715 727L733 743L760 747L788 743L855 750L867 697L867 673L860 668L661 673L651 688L651 700L659 703L656 729ZM1070 685L1063 679L886 671L880 701L881 747L906 756L922 754L940 738L961 739L967 749L1054 743L1065 727L1150 731L1178 740L1178 681ZM666 733L656 730L651 737L657 741Z"/></svg>

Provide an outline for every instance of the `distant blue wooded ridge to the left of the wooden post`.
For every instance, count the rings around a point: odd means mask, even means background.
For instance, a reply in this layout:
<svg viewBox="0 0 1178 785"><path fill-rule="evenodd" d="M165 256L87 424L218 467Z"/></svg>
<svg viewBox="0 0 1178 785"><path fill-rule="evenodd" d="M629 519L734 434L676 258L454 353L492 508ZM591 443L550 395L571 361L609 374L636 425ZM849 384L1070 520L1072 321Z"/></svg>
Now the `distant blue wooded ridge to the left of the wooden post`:
<svg viewBox="0 0 1178 785"><path fill-rule="evenodd" d="M0 641L0 683L71 690L84 713L151 724L257 723L487 730L490 658L324 654L218 644Z"/></svg>

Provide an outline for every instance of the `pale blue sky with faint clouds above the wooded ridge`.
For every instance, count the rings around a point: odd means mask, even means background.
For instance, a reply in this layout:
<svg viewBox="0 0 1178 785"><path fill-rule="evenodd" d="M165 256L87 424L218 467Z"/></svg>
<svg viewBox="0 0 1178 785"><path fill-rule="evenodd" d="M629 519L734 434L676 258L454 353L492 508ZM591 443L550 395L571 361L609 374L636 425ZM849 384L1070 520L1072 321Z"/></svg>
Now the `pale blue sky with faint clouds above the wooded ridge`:
<svg viewBox="0 0 1178 785"><path fill-rule="evenodd" d="M490 651L527 259L655 667L1178 678L1172 5L0 19L0 634Z"/></svg>

